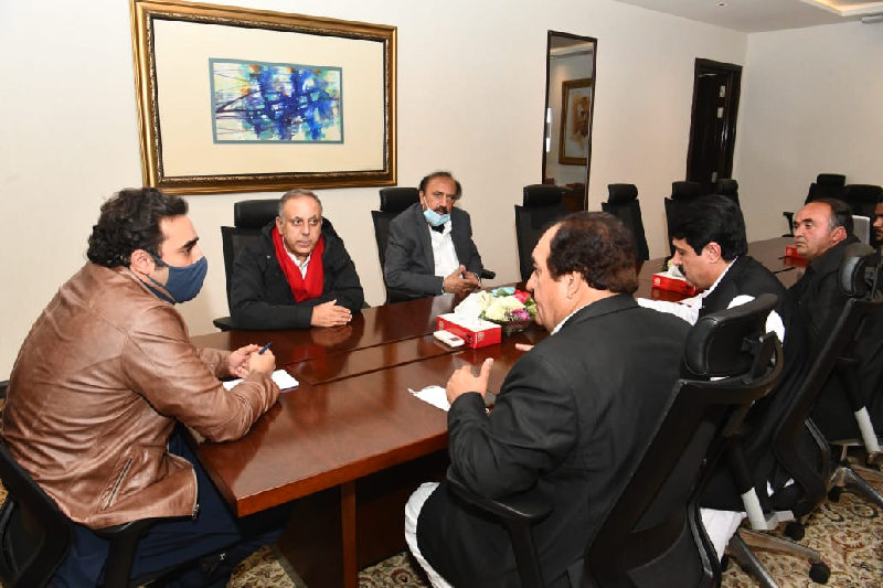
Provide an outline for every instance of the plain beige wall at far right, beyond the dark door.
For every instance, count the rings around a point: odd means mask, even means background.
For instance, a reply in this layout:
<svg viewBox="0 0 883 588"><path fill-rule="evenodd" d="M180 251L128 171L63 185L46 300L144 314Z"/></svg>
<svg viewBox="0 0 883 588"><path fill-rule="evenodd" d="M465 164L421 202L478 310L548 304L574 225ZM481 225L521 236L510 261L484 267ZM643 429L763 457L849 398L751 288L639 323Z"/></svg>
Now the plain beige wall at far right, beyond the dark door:
<svg viewBox="0 0 883 588"><path fill-rule="evenodd" d="M883 184L883 24L753 34L742 84L733 177L749 238L783 234L819 173Z"/></svg>

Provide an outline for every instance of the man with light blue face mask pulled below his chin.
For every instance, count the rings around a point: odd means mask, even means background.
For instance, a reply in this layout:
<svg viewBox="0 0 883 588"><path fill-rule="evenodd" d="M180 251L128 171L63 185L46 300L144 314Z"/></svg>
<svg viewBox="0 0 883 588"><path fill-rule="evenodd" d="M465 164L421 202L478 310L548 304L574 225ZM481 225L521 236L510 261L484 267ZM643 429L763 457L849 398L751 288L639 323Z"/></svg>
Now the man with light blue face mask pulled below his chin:
<svg viewBox="0 0 883 588"><path fill-rule="evenodd" d="M384 268L389 288L423 297L479 287L481 256L469 213L454 206L461 193L449 172L423 179L419 202L390 223Z"/></svg>

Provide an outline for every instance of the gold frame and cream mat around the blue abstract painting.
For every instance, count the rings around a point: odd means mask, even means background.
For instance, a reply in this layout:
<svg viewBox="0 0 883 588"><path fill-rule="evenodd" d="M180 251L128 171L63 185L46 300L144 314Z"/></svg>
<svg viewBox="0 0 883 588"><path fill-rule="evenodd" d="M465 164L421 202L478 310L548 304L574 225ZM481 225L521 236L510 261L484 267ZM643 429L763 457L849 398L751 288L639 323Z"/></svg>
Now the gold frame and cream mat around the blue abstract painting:
<svg viewBox="0 0 883 588"><path fill-rule="evenodd" d="M145 185L210 194L396 183L395 26L178 0L130 9ZM219 57L342 72L339 140L267 140L254 128L256 140L219 140Z"/></svg>

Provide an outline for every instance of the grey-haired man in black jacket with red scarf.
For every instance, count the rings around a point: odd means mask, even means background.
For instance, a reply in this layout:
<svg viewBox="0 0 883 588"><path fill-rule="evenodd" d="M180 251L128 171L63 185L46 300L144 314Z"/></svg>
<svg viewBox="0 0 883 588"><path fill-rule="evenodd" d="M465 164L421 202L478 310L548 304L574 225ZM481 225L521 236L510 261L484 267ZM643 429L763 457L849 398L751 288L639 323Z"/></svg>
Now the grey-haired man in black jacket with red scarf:
<svg viewBox="0 0 883 588"><path fill-rule="evenodd" d="M291 190L260 238L236 256L230 291L238 329L339 327L364 303L355 265L312 192Z"/></svg>

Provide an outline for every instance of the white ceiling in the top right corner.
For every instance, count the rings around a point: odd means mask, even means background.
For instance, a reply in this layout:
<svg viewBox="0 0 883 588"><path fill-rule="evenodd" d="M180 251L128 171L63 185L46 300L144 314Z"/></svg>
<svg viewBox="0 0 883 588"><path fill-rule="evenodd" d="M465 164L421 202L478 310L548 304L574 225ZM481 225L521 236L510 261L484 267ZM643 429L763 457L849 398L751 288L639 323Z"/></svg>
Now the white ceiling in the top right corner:
<svg viewBox="0 0 883 588"><path fill-rule="evenodd" d="M744 33L802 29L883 14L866 0L616 0ZM724 4L724 6L720 6ZM883 19L881 19L883 20ZM880 24L879 24L880 25Z"/></svg>

